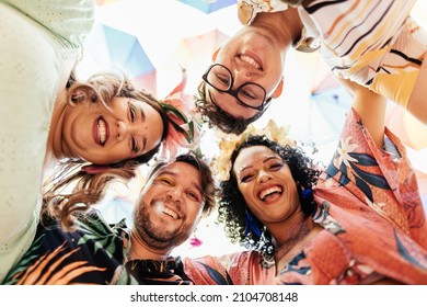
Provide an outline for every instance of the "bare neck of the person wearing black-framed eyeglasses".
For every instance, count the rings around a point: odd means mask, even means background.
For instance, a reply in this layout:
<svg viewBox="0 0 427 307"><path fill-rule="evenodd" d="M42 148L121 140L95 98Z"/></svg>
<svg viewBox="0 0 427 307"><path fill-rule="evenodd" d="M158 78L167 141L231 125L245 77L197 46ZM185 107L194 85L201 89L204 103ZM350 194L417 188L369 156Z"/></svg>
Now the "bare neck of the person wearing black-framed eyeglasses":
<svg viewBox="0 0 427 307"><path fill-rule="evenodd" d="M287 49L302 32L302 22L296 8L274 13L258 13L250 26L268 30Z"/></svg>

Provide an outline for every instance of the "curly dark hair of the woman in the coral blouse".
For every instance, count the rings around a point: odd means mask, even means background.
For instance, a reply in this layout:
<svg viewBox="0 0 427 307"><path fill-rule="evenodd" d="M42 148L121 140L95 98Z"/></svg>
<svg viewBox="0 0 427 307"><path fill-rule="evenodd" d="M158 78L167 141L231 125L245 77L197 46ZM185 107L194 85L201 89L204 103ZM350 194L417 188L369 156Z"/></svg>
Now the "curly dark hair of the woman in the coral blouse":
<svg viewBox="0 0 427 307"><path fill-rule="evenodd" d="M302 191L304 189L309 189L309 191L311 191L321 174L321 171L314 163L313 159L305 156L304 151L300 147L290 147L288 145L280 146L266 136L251 135L236 149L234 149L231 155L231 164L234 164L239 152L243 148L259 145L272 149L289 166L292 178L297 183L302 211L308 216L311 215L315 209L313 193L309 193L309 195L304 195L303 197ZM238 180L232 167L230 170L230 179L220 182L220 190L221 192L218 202L218 221L224 224L227 237L231 239L231 242L239 242L247 249L262 250L263 245L261 243L261 240L269 238L270 235L267 230L265 230L266 232L262 236L264 238L261 238L256 236L252 229L247 229L249 232L245 231L246 212L250 212L250 209L243 195L239 191ZM253 219L259 229L263 229L264 225L254 215Z"/></svg>

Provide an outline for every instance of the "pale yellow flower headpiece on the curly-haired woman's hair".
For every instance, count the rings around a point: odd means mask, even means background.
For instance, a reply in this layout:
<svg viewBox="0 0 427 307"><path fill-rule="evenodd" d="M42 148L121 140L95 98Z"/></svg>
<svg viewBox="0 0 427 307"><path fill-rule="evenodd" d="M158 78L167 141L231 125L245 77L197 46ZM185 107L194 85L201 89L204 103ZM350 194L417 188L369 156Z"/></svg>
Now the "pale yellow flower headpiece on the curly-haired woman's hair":
<svg viewBox="0 0 427 307"><path fill-rule="evenodd" d="M221 134L221 132L219 132ZM289 126L278 126L275 121L270 120L268 124L257 129L253 124L249 125L246 130L239 136L222 135L220 136L220 152L212 159L211 170L218 181L230 179L231 155L249 136L264 135L267 138L278 143L280 146L296 146L297 141L288 137Z"/></svg>

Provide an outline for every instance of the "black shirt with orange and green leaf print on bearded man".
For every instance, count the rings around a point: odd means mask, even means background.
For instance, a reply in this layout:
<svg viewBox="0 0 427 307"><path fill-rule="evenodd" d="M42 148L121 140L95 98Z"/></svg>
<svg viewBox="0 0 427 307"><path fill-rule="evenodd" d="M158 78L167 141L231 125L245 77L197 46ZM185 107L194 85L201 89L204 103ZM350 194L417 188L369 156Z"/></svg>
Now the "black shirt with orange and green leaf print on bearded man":
<svg viewBox="0 0 427 307"><path fill-rule="evenodd" d="M128 260L124 220L108 225L99 212L81 215L79 229L62 231L56 220L39 224L36 238L3 284L192 285L181 258Z"/></svg>

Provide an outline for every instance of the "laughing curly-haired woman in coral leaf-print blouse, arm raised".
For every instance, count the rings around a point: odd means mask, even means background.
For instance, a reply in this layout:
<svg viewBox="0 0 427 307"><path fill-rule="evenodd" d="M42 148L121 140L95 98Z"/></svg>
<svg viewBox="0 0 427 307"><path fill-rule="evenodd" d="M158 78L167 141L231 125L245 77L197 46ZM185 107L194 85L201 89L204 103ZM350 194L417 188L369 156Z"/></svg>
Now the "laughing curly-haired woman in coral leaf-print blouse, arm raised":
<svg viewBox="0 0 427 307"><path fill-rule="evenodd" d="M383 126L385 100L348 86L355 102L328 167L250 136L231 155L218 218L259 251L246 253L273 283L427 284L427 225L405 148Z"/></svg>

